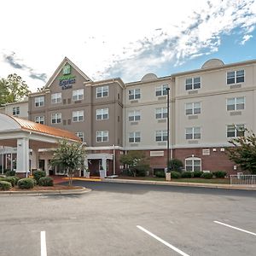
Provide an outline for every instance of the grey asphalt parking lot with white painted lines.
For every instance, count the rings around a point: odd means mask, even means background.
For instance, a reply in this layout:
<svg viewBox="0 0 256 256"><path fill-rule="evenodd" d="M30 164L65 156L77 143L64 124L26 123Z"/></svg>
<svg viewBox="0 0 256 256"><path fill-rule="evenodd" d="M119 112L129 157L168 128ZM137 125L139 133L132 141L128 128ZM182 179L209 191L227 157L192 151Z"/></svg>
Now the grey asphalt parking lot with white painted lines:
<svg viewBox="0 0 256 256"><path fill-rule="evenodd" d="M0 255L255 255L256 191L85 183L2 195Z"/></svg>

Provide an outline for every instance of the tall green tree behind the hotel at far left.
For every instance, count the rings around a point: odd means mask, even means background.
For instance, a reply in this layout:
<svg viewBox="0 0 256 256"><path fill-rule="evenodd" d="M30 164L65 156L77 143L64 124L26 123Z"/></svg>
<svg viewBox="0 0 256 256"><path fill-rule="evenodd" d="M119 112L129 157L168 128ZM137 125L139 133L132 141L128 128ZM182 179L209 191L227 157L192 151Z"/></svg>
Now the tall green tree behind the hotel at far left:
<svg viewBox="0 0 256 256"><path fill-rule="evenodd" d="M0 79L1 104L20 102L31 92L25 81L16 73L9 74L7 79ZM3 93L3 95L2 95Z"/></svg>

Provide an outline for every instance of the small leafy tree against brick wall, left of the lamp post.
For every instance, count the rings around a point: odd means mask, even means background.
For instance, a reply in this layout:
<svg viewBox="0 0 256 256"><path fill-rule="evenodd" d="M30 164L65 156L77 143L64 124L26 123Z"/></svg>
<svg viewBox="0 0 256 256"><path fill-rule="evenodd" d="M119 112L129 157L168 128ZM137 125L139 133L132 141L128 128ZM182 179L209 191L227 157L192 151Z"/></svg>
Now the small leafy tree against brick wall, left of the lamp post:
<svg viewBox="0 0 256 256"><path fill-rule="evenodd" d="M122 154L120 162L129 167L134 177L137 175L145 176L145 172L150 168L145 154L140 151L129 151L127 154Z"/></svg>

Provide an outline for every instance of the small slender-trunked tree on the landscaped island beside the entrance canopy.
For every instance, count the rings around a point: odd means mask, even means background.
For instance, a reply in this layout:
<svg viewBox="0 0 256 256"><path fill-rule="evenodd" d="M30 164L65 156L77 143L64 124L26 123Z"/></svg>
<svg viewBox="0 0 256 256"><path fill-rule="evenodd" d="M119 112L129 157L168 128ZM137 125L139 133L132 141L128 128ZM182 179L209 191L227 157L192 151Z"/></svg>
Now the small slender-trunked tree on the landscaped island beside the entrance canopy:
<svg viewBox="0 0 256 256"><path fill-rule="evenodd" d="M84 167L84 157L84 143L69 143L64 139L59 142L50 163L63 168L68 176L68 185L72 186L74 172Z"/></svg>

